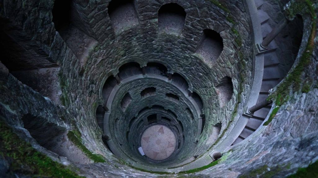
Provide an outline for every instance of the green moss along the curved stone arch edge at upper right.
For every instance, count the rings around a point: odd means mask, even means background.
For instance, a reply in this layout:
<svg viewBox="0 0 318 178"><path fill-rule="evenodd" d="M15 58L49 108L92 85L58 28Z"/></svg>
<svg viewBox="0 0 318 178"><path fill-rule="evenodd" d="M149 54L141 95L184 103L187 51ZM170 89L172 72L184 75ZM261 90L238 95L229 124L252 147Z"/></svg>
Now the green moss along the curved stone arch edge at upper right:
<svg viewBox="0 0 318 178"><path fill-rule="evenodd" d="M312 20L312 29L311 33L308 39L308 43L306 45L306 48L301 54L301 57L299 59L299 62L297 66L288 74L288 76L283 80L283 82L277 86L275 92L273 92L269 99L272 100L278 100L278 97L280 96L280 102L283 104L289 99L289 93L290 91L299 91L301 83L303 81L306 81L307 79L302 79L302 73L305 70L305 68L311 63L311 57L314 49L314 39L316 34L316 13L314 10L314 7L312 6L312 2L310 0L298 0L295 1L293 4L290 5L290 7L287 10L287 14L290 17L295 16L295 14L301 13L305 11L306 13L311 16ZM305 91L308 88L305 88Z"/></svg>

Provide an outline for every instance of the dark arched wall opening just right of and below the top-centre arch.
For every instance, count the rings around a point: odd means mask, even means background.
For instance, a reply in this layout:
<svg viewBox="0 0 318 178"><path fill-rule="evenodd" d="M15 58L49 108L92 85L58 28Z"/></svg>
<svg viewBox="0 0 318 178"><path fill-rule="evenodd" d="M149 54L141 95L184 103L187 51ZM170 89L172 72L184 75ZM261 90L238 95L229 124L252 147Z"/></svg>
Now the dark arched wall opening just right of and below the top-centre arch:
<svg viewBox="0 0 318 178"><path fill-rule="evenodd" d="M203 30L196 53L200 54L206 63L211 63L218 59L222 51L223 39L221 35L214 30Z"/></svg>

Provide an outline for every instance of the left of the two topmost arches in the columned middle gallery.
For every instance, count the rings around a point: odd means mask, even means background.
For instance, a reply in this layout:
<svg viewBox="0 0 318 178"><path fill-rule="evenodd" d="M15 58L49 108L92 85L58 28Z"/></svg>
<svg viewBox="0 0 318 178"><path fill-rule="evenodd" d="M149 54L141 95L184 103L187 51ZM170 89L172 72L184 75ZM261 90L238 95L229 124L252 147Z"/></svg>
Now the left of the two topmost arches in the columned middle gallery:
<svg viewBox="0 0 318 178"><path fill-rule="evenodd" d="M141 74L140 65L137 62L128 62L121 67L119 67L118 77L119 79L126 79L134 75Z"/></svg>

